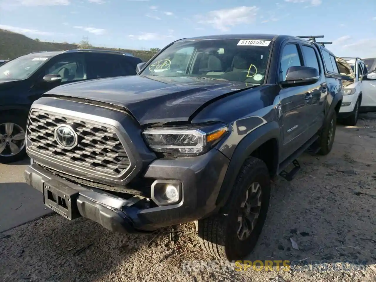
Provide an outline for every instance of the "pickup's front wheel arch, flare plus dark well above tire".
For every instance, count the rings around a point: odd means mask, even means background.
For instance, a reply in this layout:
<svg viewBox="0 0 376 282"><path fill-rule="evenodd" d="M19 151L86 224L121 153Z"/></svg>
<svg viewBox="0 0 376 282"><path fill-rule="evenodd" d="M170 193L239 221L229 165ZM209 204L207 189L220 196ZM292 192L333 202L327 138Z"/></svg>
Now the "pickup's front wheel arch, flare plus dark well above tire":
<svg viewBox="0 0 376 282"><path fill-rule="evenodd" d="M226 202L233 190L233 185L250 156L261 159L273 177L279 165L280 128L276 121L264 124L245 136L237 145L226 171L220 192L217 197L217 209L226 213Z"/></svg>

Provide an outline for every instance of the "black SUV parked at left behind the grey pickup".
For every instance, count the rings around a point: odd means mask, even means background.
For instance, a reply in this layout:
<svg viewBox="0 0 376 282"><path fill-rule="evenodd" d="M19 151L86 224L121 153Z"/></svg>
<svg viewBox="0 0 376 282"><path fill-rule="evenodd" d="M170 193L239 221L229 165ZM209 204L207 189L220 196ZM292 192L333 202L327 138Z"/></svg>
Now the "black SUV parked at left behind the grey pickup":
<svg viewBox="0 0 376 282"><path fill-rule="evenodd" d="M0 163L25 154L25 128L31 104L58 85L136 74L141 59L107 50L35 52L0 66Z"/></svg>

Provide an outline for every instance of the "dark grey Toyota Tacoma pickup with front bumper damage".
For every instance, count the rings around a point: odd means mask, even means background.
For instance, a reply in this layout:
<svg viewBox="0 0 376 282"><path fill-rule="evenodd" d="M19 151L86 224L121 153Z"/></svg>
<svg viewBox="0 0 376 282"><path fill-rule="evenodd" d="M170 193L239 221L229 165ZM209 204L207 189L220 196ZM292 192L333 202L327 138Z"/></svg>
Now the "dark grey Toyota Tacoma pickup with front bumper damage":
<svg viewBox="0 0 376 282"><path fill-rule="evenodd" d="M175 41L138 69L33 103L26 182L65 218L133 233L195 221L203 249L243 258L271 179L291 180L307 149L332 149L335 56L294 36L220 35Z"/></svg>

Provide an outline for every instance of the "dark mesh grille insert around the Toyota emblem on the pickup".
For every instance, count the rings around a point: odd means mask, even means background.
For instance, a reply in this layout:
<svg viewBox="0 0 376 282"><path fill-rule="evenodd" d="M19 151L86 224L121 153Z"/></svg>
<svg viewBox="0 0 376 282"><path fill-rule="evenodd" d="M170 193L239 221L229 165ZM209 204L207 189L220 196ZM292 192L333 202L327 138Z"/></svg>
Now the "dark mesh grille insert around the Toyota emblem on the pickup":
<svg viewBox="0 0 376 282"><path fill-rule="evenodd" d="M55 140L55 128L70 125L78 136L73 149L64 149ZM52 112L32 110L28 132L28 149L74 165L110 176L122 174L130 165L127 153L115 131L106 125L80 121Z"/></svg>

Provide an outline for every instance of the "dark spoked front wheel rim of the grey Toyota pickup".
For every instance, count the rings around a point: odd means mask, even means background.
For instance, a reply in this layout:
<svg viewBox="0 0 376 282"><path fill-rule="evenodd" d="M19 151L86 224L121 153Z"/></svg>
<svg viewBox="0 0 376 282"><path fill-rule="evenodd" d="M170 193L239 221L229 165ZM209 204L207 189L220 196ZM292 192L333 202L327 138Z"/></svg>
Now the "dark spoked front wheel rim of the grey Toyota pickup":
<svg viewBox="0 0 376 282"><path fill-rule="evenodd" d="M238 238L246 240L256 226L261 210L261 185L253 182L247 189L238 212Z"/></svg>

